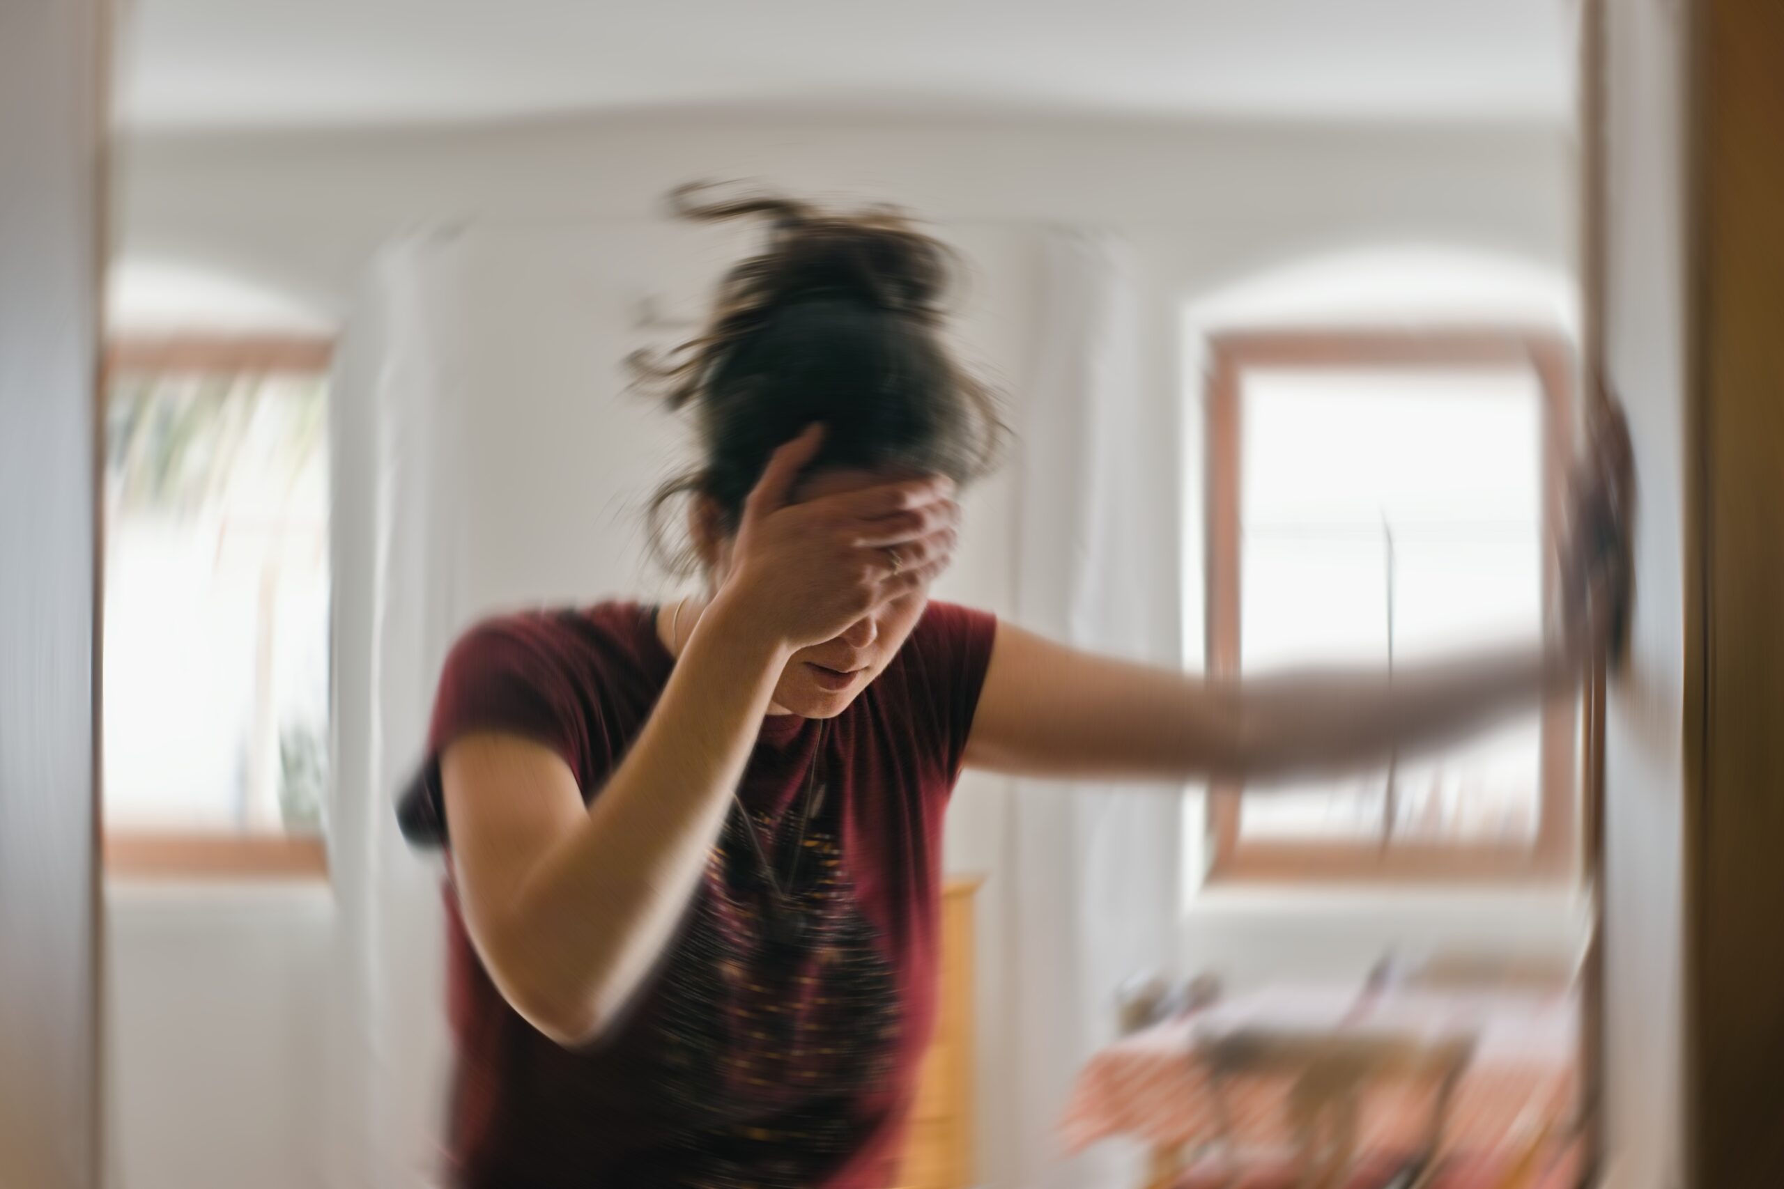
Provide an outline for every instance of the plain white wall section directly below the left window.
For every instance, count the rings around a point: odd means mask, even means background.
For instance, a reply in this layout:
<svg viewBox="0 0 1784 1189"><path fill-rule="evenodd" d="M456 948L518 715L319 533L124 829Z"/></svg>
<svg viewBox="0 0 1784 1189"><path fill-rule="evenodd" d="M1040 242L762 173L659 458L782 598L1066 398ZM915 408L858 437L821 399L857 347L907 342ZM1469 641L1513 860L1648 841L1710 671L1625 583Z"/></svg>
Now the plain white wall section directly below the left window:
<svg viewBox="0 0 1784 1189"><path fill-rule="evenodd" d="M114 886L105 909L114 1184L323 1184L328 890Z"/></svg>

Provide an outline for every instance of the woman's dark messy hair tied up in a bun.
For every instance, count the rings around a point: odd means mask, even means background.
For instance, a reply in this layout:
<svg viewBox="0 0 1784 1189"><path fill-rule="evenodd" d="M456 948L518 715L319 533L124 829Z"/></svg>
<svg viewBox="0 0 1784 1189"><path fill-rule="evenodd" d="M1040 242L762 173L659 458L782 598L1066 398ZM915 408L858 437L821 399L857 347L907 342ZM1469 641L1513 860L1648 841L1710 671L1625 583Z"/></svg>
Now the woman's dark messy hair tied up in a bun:
<svg viewBox="0 0 1784 1189"><path fill-rule="evenodd" d="M805 426L826 426L822 467L899 467L958 485L995 463L1004 426L994 392L942 340L956 262L940 241L890 207L833 214L789 198L710 200L710 185L676 189L687 219L760 217L767 244L719 283L705 328L664 357L637 353L640 385L696 414L701 465L651 501L651 538L676 570L665 508L683 494L710 499L735 531L769 456Z"/></svg>

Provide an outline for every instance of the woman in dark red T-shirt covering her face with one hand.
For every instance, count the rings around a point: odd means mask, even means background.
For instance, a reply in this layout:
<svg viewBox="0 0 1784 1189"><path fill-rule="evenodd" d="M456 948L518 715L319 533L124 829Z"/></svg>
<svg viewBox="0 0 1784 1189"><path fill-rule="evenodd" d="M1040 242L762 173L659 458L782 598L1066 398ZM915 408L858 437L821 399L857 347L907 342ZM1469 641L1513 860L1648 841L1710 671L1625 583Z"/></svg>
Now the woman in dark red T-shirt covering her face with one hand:
<svg viewBox="0 0 1784 1189"><path fill-rule="evenodd" d="M662 497L690 496L703 594L473 629L403 804L451 859L460 1185L888 1185L963 767L1365 765L1570 693L1595 647L1584 554L1565 640L1392 685L1227 686L929 603L999 435L940 342L944 250L887 212L687 214L772 221L655 373L699 421Z"/></svg>

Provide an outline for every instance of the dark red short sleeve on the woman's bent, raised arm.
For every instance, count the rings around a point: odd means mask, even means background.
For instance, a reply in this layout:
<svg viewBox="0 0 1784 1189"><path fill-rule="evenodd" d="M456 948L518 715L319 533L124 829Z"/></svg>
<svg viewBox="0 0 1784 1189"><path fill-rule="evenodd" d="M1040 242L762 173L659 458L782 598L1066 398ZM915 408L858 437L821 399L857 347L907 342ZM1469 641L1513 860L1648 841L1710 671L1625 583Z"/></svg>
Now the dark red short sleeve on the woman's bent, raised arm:
<svg viewBox="0 0 1784 1189"><path fill-rule="evenodd" d="M508 617L478 624L453 645L441 670L421 772L398 800L398 824L416 845L446 845L446 808L439 759L476 731L517 734L569 765L582 784L587 722L564 647L544 617Z"/></svg>

